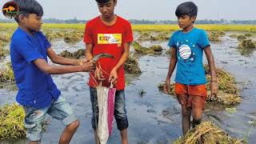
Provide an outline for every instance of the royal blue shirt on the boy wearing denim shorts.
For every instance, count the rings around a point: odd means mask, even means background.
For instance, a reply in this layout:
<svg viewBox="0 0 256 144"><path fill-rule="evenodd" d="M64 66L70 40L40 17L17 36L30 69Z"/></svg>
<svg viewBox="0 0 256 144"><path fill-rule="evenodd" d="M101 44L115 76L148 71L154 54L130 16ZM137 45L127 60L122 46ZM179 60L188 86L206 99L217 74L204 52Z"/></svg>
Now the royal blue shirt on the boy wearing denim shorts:
<svg viewBox="0 0 256 144"><path fill-rule="evenodd" d="M23 106L44 108L61 94L50 74L39 70L33 62L38 58L47 62L48 48L50 42L41 31L32 36L18 28L11 38L10 58L18 86L16 101Z"/></svg>

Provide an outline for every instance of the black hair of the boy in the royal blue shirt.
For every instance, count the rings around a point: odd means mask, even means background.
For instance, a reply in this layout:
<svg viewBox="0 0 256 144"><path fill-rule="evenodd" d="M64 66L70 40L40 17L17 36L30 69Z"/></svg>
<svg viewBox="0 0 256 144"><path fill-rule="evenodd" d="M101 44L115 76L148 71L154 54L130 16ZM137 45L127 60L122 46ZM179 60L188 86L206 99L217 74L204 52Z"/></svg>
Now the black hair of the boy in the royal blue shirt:
<svg viewBox="0 0 256 144"><path fill-rule="evenodd" d="M14 2L18 6L18 14L14 18L16 22L21 14L26 17L30 14L37 14L40 17L43 15L42 6L35 0L14 0Z"/></svg>

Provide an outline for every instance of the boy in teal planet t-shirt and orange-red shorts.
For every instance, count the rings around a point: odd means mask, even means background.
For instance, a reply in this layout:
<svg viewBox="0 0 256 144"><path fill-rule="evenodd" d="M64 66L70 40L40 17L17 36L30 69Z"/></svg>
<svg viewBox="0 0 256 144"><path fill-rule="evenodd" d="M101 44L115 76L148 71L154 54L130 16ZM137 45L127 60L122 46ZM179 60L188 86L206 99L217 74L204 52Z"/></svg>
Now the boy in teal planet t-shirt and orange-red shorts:
<svg viewBox="0 0 256 144"><path fill-rule="evenodd" d="M194 27L198 7L193 2L180 4L176 11L178 26L182 30L175 31L168 46L171 47L170 67L166 77L166 93L170 89L170 77L177 65L175 77L175 94L182 106L182 131L185 135L190 130L190 116L193 127L202 121L202 110L205 109L207 98L206 76L202 64L205 52L210 67L211 96L217 94L218 83L215 72L214 56L210 50L210 42L204 30Z"/></svg>

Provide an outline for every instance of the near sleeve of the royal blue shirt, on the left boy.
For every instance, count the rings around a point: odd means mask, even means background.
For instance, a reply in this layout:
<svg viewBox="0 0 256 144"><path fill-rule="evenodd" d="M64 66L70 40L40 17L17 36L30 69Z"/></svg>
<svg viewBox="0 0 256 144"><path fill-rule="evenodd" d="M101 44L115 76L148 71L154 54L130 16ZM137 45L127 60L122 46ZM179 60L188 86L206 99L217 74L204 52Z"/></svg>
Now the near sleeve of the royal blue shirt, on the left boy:
<svg viewBox="0 0 256 144"><path fill-rule="evenodd" d="M33 62L38 58L43 58L42 54L40 54L38 50L36 50L32 42L30 42L29 40L14 43L14 47L16 50L18 50L18 53L26 59L26 62Z"/></svg>

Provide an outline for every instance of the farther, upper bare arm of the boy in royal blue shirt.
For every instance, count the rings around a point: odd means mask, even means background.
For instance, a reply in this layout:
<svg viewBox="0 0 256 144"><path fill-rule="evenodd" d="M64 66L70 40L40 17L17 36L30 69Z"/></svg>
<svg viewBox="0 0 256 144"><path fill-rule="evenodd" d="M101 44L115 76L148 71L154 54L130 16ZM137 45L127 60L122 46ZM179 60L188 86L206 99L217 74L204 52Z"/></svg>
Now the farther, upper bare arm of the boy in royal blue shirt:
<svg viewBox="0 0 256 144"><path fill-rule="evenodd" d="M49 49L47 49L47 55L51 59L52 62L57 63L57 64L70 65L70 66L82 65L81 60L71 59L71 58L63 58L61 56L58 56L58 54L56 54L51 47Z"/></svg>

